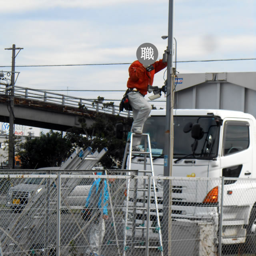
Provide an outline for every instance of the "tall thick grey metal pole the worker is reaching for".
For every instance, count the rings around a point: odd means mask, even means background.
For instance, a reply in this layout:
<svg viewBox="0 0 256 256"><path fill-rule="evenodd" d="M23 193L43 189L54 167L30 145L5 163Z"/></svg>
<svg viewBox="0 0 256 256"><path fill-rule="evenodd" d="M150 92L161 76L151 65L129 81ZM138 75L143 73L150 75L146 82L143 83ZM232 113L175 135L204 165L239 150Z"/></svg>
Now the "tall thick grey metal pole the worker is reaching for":
<svg viewBox="0 0 256 256"><path fill-rule="evenodd" d="M168 18L168 46L167 46L167 84L166 84L166 131L164 134L164 176L172 176L172 129L173 129L173 85L172 85L172 55L173 55L173 9L174 1L169 0L169 18ZM164 255L171 254L171 182L164 182L163 197L163 237L164 237Z"/></svg>

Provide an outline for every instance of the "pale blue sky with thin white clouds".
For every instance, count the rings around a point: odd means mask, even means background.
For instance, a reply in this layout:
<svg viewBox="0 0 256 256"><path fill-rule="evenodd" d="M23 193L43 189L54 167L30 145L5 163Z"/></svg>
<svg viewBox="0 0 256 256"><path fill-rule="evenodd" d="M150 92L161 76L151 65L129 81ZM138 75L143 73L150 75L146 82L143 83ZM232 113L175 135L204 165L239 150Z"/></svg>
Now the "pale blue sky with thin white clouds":
<svg viewBox="0 0 256 256"><path fill-rule="evenodd" d="M132 63L146 42L156 46L159 59L168 44L161 38L168 35L168 0L0 0L0 6L0 66L11 65L12 51L5 48L24 48L16 56L16 86L101 96L119 105L124 92L77 90L125 91L129 64L81 64ZM173 36L180 74L256 71L256 60L179 62L256 58L255 0L174 0ZM68 64L79 66L28 67ZM164 84L164 71L154 86Z"/></svg>

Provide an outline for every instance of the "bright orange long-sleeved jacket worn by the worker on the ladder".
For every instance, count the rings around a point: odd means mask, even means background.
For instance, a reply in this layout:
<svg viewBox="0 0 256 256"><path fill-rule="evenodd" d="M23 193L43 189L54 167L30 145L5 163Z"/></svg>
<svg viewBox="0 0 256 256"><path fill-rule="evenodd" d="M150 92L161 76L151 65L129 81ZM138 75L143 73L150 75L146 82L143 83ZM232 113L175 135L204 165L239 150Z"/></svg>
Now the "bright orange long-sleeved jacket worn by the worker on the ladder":
<svg viewBox="0 0 256 256"><path fill-rule="evenodd" d="M138 60L134 61L129 67L127 87L136 88L142 95L146 95L148 93L148 85L153 84L155 73L164 69L167 63L163 63L162 60L159 60L152 65L154 66L154 70L147 72L146 68L144 68Z"/></svg>

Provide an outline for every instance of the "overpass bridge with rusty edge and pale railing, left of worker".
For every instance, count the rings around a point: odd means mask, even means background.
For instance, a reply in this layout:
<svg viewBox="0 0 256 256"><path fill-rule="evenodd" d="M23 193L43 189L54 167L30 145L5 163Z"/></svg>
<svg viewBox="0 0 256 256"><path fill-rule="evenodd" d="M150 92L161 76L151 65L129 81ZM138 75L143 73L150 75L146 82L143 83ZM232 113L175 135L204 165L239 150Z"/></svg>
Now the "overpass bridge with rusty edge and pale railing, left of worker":
<svg viewBox="0 0 256 256"><path fill-rule="evenodd" d="M9 122L9 92L10 88L0 84L0 122ZM93 123L97 113L110 118L119 115L120 119L132 123L132 113L127 111L119 113L119 106L109 107L94 100L20 86L14 88L13 112L14 124L61 131L80 126L78 120L81 117L85 118L89 126Z"/></svg>

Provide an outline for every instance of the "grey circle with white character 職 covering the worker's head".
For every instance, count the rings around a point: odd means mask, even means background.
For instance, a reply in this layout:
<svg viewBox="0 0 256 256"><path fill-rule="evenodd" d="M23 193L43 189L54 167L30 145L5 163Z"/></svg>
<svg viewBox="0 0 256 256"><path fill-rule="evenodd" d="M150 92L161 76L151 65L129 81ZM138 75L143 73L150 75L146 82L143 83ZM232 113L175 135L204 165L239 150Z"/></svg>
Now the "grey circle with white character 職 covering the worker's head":
<svg viewBox="0 0 256 256"><path fill-rule="evenodd" d="M138 47L136 56L140 63L148 66L157 60L158 50L154 44L144 43Z"/></svg>

